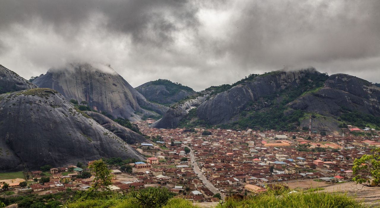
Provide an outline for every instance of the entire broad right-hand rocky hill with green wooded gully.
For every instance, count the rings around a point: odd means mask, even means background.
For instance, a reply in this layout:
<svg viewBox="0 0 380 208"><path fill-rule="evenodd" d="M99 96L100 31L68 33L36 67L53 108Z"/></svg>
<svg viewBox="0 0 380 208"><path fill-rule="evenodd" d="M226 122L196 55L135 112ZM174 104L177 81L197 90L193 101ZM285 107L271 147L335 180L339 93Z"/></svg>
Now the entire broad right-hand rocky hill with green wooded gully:
<svg viewBox="0 0 380 208"><path fill-rule="evenodd" d="M380 115L379 98L378 87L347 74L280 70L208 88L173 105L151 126L294 131L307 127L312 116L315 130L338 131L355 116L356 123L380 127L377 119L369 121Z"/></svg>

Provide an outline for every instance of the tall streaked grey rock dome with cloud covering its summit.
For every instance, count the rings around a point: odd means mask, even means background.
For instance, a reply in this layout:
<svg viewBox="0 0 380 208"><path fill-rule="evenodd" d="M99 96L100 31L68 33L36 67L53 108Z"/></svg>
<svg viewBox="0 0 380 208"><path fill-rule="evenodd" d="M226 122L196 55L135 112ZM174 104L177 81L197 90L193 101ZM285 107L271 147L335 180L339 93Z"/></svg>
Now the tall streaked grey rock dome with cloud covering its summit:
<svg viewBox="0 0 380 208"><path fill-rule="evenodd" d="M114 118L136 121L143 116L163 114L168 109L147 101L110 66L72 63L49 69L34 79L33 84L57 90L69 100L86 101L92 109L108 112Z"/></svg>

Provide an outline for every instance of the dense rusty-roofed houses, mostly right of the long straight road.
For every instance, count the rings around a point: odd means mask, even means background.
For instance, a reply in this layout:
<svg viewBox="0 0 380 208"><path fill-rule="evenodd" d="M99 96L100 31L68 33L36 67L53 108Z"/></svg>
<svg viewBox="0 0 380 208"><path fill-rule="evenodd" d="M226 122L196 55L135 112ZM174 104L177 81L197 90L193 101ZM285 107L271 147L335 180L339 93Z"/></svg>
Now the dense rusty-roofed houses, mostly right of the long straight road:
<svg viewBox="0 0 380 208"><path fill-rule="evenodd" d="M162 138L155 145L165 145L167 150L162 150L161 157L168 164L186 156L182 152L185 146L192 148L203 174L226 193L259 193L265 191L263 184L295 180L349 181L353 160L380 147L375 131L372 137L334 137L252 129L154 129L147 127L149 121L136 123L147 136ZM202 135L205 130L212 134ZM299 151L299 147L304 148Z"/></svg>

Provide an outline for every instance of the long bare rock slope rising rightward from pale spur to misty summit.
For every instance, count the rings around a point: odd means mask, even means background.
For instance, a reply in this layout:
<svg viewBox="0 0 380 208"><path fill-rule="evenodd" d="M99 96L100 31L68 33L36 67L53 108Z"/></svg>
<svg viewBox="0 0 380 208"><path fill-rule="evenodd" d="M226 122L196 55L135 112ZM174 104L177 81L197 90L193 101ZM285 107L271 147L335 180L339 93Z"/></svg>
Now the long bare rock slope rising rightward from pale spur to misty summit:
<svg viewBox="0 0 380 208"><path fill-rule="evenodd" d="M210 87L192 96L192 99L179 102L152 127L172 128L172 126L186 126L189 123L191 125L232 123L236 120L235 117L244 110L260 110L271 105L270 102L260 102L261 98L274 95L287 88L297 88L301 83L310 87L312 81L307 80L318 76L324 75L314 68L291 72L275 71L262 75L251 74L233 85ZM284 98L279 96L277 99L280 101ZM187 115L188 112L190 112L189 115Z"/></svg>

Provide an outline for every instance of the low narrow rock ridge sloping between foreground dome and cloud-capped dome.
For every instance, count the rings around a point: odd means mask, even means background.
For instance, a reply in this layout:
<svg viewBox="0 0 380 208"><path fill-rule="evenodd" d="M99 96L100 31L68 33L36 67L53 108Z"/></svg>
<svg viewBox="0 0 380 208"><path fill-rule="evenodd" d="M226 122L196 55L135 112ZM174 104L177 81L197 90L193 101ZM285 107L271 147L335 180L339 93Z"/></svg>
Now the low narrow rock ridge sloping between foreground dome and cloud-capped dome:
<svg viewBox="0 0 380 208"><path fill-rule="evenodd" d="M144 136L138 134L131 129L128 129L115 121L112 121L105 115L101 113L96 113L92 111L84 111L87 115L93 118L96 122L98 122L101 126L108 129L112 133L116 134L116 136L120 137L122 140L127 142L128 144L136 144L136 143L150 143Z"/></svg>

